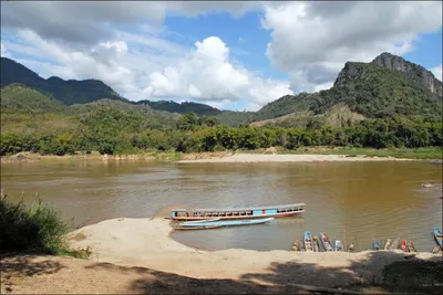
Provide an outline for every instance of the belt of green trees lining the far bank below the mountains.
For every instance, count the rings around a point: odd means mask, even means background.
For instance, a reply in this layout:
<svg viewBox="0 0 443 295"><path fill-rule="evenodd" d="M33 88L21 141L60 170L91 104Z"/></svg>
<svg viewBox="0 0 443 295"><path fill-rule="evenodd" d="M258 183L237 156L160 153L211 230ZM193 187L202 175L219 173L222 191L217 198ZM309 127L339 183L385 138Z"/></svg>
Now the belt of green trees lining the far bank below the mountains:
<svg viewBox="0 0 443 295"><path fill-rule="evenodd" d="M23 129L2 131L0 155L31 151L63 156L94 150L102 155L130 155L146 150L254 151L269 147L281 147L286 154L297 154L303 148L326 146L341 147L339 151L332 149L332 154L350 156L371 149L369 156L441 158L443 143L441 122L405 116L363 119L348 127L320 125L312 118L303 128L269 125L235 128L219 124L215 117L198 117L190 113L179 117L175 126L167 127L150 125L136 113L106 106L64 119L58 128L48 128L48 125L32 124L32 119L27 118Z"/></svg>

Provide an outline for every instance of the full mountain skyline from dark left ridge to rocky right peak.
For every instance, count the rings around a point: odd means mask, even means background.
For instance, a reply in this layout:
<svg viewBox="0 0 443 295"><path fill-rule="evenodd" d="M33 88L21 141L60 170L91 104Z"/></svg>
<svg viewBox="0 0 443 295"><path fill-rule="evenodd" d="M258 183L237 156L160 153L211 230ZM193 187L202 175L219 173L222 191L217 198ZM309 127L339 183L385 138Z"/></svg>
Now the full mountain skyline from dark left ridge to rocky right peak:
<svg viewBox="0 0 443 295"><path fill-rule="evenodd" d="M430 71L387 52L370 63L347 62L330 89L286 95L265 105L258 112L220 110L194 102L147 99L131 102L120 96L102 81L64 81L56 76L45 80L20 63L1 57L1 87L11 84L24 85L64 105L89 104L106 98L133 106L143 105L153 110L216 116L222 123L230 126L271 120L290 114L292 115L288 118L292 122L299 120L299 116L303 116L301 122L306 122L308 117L338 114L337 109L346 109L348 113L346 117L350 118L393 115L441 117L443 93L442 82ZM18 96L23 96L23 99L17 104L8 103L10 109L19 109L20 104L30 103L31 92L22 88L20 91L17 88L14 92ZM8 93L16 95L11 91ZM48 101L44 104L51 103ZM54 105L54 109L58 107Z"/></svg>

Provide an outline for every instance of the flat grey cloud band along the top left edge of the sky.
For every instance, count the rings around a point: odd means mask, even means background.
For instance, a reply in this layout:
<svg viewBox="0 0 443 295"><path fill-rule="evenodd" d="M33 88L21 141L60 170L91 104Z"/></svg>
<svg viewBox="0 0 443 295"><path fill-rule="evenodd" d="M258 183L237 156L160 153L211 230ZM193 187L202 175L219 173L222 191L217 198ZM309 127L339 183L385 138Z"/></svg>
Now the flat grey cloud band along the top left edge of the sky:
<svg viewBox="0 0 443 295"><path fill-rule="evenodd" d="M2 1L1 27L31 29L43 39L93 44L111 39L115 25L158 28L166 14L228 11L241 15L257 7L249 1Z"/></svg>

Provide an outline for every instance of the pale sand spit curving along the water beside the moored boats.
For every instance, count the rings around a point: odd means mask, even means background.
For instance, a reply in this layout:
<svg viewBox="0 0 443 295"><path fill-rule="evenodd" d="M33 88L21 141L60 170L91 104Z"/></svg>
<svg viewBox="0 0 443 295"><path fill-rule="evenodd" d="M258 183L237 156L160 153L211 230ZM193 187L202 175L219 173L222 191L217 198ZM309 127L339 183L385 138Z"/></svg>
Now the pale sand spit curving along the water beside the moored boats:
<svg viewBox="0 0 443 295"><path fill-rule="evenodd" d="M164 219L113 219L70 234L74 246L91 246L92 260L119 265L144 266L196 278L287 280L327 287L373 283L384 265L403 261L401 252L332 252L224 250L200 251L169 238ZM76 239L75 239L76 238ZM289 247L290 245L288 245ZM416 259L435 257L418 253Z"/></svg>

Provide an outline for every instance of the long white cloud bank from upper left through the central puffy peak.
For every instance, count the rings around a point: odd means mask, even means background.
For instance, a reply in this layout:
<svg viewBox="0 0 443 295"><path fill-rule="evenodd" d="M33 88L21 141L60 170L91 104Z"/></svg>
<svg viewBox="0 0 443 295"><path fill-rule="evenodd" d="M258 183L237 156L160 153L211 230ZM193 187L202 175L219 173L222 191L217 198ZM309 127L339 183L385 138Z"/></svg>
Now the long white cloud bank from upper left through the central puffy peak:
<svg viewBox="0 0 443 295"><path fill-rule="evenodd" d="M185 50L155 36L123 32L117 35L123 39L72 50L66 44L43 40L30 30L20 30L20 40L10 44L16 53L53 61L18 60L44 77L102 80L134 101L186 98L223 107L249 99L250 107L257 108L292 93L288 82L262 80L234 65L229 61L229 48L217 36L206 38L196 42L193 50ZM158 48L163 52L156 52Z"/></svg>

